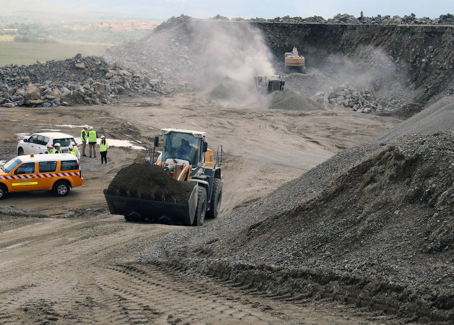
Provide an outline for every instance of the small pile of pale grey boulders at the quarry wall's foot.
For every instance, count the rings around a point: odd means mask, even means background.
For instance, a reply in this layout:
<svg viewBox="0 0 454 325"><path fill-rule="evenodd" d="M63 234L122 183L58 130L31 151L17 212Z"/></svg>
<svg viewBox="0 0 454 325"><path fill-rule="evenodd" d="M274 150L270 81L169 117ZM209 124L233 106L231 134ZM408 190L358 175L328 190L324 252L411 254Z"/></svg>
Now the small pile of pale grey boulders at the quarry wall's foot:
<svg viewBox="0 0 454 325"><path fill-rule="evenodd" d="M348 84L330 87L326 93L318 92L314 95L314 99L319 103L342 105L361 113L383 110L372 91L367 88L357 90Z"/></svg>

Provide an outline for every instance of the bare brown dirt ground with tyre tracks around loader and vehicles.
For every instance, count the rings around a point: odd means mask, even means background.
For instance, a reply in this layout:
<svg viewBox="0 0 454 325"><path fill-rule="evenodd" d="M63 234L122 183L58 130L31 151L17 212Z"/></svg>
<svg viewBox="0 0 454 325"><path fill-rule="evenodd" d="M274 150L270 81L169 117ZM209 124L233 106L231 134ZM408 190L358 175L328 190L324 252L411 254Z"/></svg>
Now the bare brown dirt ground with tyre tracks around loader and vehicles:
<svg viewBox="0 0 454 325"><path fill-rule="evenodd" d="M0 160L14 156L16 133L89 123L107 138L143 141L161 127L200 129L222 144L224 196L219 218L326 160L371 142L398 120L347 110L252 110L199 95L126 98L117 106L0 110ZM59 127L78 137L80 128ZM0 323L380 323L379 316L319 301L291 303L188 279L155 265L131 264L157 238L189 227L127 223L103 198L116 172L145 151L110 148L108 165L81 160L84 185L66 198L11 194L3 205L50 218L0 217ZM99 159L99 158L98 158Z"/></svg>

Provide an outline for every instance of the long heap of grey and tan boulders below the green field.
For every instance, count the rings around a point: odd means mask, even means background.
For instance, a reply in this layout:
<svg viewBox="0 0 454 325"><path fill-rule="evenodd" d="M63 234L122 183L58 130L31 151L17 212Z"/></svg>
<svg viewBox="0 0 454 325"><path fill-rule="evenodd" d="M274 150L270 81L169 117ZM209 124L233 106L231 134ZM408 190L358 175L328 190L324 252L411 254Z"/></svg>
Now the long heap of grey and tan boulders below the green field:
<svg viewBox="0 0 454 325"><path fill-rule="evenodd" d="M78 54L61 61L0 68L0 105L4 107L111 104L119 95L134 92L160 93L159 80L97 56Z"/></svg>

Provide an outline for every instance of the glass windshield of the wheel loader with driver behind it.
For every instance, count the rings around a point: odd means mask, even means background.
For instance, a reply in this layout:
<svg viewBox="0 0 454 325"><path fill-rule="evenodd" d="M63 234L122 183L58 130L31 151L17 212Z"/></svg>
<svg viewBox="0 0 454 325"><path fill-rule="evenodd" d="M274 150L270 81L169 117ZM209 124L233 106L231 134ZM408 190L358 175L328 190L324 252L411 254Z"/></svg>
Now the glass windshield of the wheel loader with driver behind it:
<svg viewBox="0 0 454 325"><path fill-rule="evenodd" d="M166 134L162 161L176 158L188 160L192 166L197 165L201 159L201 141L201 138L196 138L189 133L171 132Z"/></svg>

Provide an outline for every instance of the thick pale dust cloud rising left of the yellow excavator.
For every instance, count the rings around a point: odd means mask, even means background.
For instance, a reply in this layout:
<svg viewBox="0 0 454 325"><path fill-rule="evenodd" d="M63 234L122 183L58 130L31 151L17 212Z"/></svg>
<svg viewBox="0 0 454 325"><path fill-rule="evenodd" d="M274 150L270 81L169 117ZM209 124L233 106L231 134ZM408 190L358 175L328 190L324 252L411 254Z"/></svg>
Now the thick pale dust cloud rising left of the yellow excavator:
<svg viewBox="0 0 454 325"><path fill-rule="evenodd" d="M260 30L235 22L204 24L192 22L195 71L194 87L212 98L257 103L254 77L274 75L272 53Z"/></svg>

